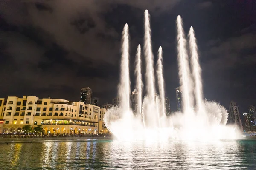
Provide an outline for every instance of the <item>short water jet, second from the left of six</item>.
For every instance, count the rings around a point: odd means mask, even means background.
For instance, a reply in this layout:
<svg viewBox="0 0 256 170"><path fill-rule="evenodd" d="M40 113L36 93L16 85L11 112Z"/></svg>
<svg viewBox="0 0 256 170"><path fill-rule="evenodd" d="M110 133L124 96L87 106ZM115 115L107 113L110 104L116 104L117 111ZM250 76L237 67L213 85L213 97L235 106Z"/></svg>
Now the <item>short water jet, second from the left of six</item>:
<svg viewBox="0 0 256 170"><path fill-rule="evenodd" d="M138 91L137 94L137 114L139 116L142 116L143 124L144 123L144 116L142 115L141 109L142 109L142 88L143 88L143 82L142 82L142 75L141 75L141 47L140 44L137 47L136 57L135 57L135 77L136 77L136 85L135 88Z"/></svg>

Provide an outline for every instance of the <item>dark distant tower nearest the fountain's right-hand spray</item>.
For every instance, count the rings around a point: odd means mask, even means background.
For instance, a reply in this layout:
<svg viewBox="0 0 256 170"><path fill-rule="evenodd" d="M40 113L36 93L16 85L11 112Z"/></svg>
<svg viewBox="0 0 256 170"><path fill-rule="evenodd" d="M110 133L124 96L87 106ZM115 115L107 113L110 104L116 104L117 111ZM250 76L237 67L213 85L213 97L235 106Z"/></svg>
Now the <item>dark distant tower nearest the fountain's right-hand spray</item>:
<svg viewBox="0 0 256 170"><path fill-rule="evenodd" d="M230 124L236 124L240 128L240 130L243 129L242 121L239 115L239 109L238 106L236 105L236 102L230 102L228 121Z"/></svg>

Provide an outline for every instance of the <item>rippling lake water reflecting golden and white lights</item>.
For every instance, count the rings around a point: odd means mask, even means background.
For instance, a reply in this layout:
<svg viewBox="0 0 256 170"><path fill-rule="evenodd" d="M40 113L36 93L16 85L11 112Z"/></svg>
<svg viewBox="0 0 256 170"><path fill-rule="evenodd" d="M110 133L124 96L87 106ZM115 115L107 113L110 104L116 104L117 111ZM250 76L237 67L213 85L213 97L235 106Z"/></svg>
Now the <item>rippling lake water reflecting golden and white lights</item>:
<svg viewBox="0 0 256 170"><path fill-rule="evenodd" d="M256 170L256 140L0 144L1 170Z"/></svg>

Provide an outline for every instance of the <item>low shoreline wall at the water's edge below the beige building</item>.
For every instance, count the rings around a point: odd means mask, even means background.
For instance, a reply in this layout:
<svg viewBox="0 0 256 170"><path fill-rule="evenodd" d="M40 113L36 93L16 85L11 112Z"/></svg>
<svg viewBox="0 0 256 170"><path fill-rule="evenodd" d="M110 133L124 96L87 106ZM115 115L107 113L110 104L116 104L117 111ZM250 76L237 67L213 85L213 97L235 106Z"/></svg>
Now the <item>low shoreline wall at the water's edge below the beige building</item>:
<svg viewBox="0 0 256 170"><path fill-rule="evenodd" d="M52 137L52 138L0 138L0 143L62 142L62 141L104 141L112 137Z"/></svg>

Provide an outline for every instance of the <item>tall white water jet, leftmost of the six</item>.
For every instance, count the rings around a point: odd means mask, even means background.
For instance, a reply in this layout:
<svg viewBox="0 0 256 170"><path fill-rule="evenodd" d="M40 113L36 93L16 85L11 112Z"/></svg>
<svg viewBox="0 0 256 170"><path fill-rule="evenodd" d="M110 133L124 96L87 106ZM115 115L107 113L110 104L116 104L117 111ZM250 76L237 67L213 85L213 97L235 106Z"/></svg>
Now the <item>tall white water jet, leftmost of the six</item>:
<svg viewBox="0 0 256 170"><path fill-rule="evenodd" d="M120 108L124 111L130 110L130 75L129 75L129 33L128 25L125 24L122 31L121 48L121 73L118 93L120 96Z"/></svg>

